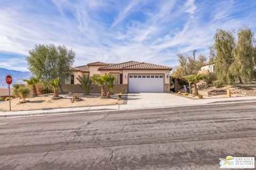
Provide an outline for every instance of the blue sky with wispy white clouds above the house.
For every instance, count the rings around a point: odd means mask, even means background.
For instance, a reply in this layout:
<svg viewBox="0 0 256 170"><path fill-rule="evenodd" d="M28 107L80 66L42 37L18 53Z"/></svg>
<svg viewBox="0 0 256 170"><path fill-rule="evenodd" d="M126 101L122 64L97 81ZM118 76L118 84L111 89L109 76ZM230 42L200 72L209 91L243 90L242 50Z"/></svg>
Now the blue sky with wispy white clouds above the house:
<svg viewBox="0 0 256 170"><path fill-rule="evenodd" d="M66 45L74 65L145 61L177 65L177 53L209 54L216 29L256 31L256 1L0 0L0 67L27 71L35 44Z"/></svg>

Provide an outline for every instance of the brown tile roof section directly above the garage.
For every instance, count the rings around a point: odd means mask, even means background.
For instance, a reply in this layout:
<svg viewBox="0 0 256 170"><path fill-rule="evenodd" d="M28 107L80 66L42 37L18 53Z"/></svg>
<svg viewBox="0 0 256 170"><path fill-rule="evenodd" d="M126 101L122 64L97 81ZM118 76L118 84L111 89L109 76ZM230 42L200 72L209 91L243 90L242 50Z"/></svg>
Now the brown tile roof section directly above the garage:
<svg viewBox="0 0 256 170"><path fill-rule="evenodd" d="M129 61L100 67L99 70L172 70L172 68L158 64Z"/></svg>

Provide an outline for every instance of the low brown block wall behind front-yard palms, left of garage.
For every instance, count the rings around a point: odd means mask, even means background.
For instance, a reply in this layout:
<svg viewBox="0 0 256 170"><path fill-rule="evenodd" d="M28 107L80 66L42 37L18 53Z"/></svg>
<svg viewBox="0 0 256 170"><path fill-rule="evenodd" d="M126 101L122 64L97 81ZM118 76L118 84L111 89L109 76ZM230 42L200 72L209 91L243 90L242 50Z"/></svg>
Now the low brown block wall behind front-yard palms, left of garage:
<svg viewBox="0 0 256 170"><path fill-rule="evenodd" d="M73 93L84 93L84 90L79 86L79 84L62 84L61 85L64 92L73 92ZM100 87L92 84L91 94L100 94ZM128 91L127 84L115 84L114 89L111 90L114 94L119 94L120 92Z"/></svg>

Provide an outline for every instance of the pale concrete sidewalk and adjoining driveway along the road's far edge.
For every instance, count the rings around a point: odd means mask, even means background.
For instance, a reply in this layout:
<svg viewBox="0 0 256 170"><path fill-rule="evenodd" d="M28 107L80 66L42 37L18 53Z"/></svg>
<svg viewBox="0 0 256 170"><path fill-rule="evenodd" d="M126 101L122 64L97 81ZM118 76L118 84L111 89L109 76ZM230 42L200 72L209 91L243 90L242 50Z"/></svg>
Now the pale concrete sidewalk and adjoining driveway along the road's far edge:
<svg viewBox="0 0 256 170"><path fill-rule="evenodd" d="M172 94L129 94L127 104L92 106L92 107L73 107L73 108L55 108L33 111L15 111L0 112L0 117L16 116L34 116L50 114L69 114L69 113L91 113L102 111L124 111L129 109L161 108L175 106L193 106L214 103L230 103L256 101L256 97L234 97L234 98L216 98L216 99L189 99Z"/></svg>

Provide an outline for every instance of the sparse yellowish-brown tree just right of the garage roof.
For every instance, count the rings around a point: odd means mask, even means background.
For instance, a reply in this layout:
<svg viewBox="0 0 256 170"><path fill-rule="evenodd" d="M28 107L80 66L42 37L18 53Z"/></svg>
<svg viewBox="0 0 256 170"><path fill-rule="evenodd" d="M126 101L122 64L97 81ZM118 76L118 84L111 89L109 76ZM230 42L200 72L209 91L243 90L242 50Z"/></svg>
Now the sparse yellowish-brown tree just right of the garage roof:
<svg viewBox="0 0 256 170"><path fill-rule="evenodd" d="M182 78L190 74L197 74L206 61L206 57L204 55L199 55L195 60L194 54L193 56L178 54L178 57L179 66L175 68L172 74L173 77Z"/></svg>

